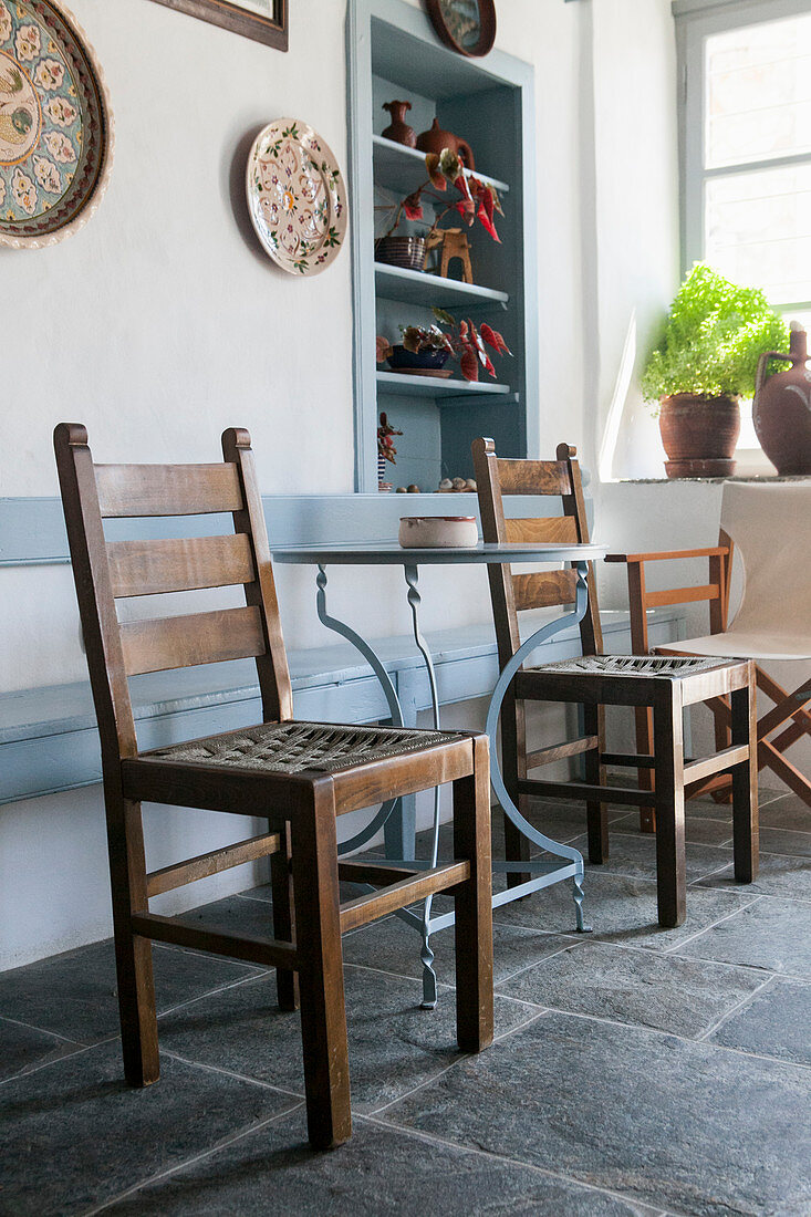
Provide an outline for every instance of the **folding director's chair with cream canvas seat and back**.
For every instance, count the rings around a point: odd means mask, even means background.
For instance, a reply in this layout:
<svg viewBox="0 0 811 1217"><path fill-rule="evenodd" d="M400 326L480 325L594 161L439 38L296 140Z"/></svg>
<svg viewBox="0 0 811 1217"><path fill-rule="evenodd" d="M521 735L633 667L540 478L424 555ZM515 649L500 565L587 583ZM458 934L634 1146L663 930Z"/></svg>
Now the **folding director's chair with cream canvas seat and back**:
<svg viewBox="0 0 811 1217"><path fill-rule="evenodd" d="M729 619L729 582L733 553L743 562L743 596ZM695 588L649 591L645 565L671 559L709 559L709 583ZM811 483L757 484L727 482L721 505L718 544L707 549L669 550L653 554L610 554L606 562L628 567L631 633L636 654L647 654L645 610L654 605L709 601L710 633L656 649L658 655L727 655L754 660L757 686L774 707L757 722L757 768L771 769L811 807L811 780L785 756L785 750L811 735L811 678L787 692L764 672L761 663L811 661ZM729 706L715 700L716 742L723 747L729 734ZM637 712L637 746L648 751L650 714ZM778 735L774 735L778 731ZM772 736L772 739L768 739ZM643 779L645 780L645 779ZM690 796L714 792L728 798L729 780L707 778L690 789ZM643 817L643 829L651 829Z"/></svg>

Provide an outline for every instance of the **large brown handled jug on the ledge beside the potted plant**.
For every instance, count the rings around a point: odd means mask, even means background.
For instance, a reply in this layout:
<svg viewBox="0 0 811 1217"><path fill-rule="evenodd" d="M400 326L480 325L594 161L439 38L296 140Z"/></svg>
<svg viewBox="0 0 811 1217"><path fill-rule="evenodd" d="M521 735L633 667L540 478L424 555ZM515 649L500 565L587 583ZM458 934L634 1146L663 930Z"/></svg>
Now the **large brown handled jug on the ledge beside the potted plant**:
<svg viewBox="0 0 811 1217"><path fill-rule="evenodd" d="M811 370L805 330L792 330L789 354L766 350L757 361L753 422L755 432L781 477L811 473ZM766 377L770 359L792 366Z"/></svg>

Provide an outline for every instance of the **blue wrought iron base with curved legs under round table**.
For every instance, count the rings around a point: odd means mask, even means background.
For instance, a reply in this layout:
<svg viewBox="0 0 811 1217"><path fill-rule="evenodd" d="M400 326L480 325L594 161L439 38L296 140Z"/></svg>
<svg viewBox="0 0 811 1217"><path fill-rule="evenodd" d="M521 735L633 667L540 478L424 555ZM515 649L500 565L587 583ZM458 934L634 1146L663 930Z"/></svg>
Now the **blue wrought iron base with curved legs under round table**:
<svg viewBox="0 0 811 1217"><path fill-rule="evenodd" d="M577 572L577 590L575 599L575 608L571 613L566 613L564 617L559 617L556 621L548 622L537 629L525 643L521 644L519 650L511 657L509 663L505 664L504 671L496 682L496 688L493 690L490 708L487 711L487 720L485 724L485 730L490 739L490 765L491 765L491 781L493 790L498 798L502 811L513 821L513 824L539 848L544 849L547 853L553 854L555 858L564 859L563 865L558 862L549 860L537 860L528 859L526 862L494 862L493 873L494 874L532 874L532 879L524 884L519 884L515 887L507 887L504 891L493 892L493 908L499 908L502 904L508 904L511 901L521 899L525 896L530 896L532 892L541 891L543 887L550 887L553 884L559 884L563 880L571 879L572 881L572 893L575 901L575 920L576 929L581 932L588 932L591 926L586 925L583 918L583 856L580 851L574 849L571 846L560 845L558 841L553 841L552 837L546 836L539 832L530 821L521 814L515 802L510 798L507 786L504 785L504 779L502 778L502 772L498 765L498 751L497 751L497 736L498 736L498 719L502 710L502 702L510 685L510 682L518 669L524 663L525 658L542 643L548 641L560 630L565 629L567 626L575 626L586 615L586 608L588 606L588 563L576 562L575 570ZM419 567L416 563L406 563L403 566L403 573L406 576L406 583L408 585L408 604L412 610L412 630L414 635L414 641L423 656L425 663L425 671L427 673L429 684L431 689L431 708L434 717L434 725L440 729L440 699L437 694L436 684L436 672L434 668L434 660L429 646L420 630L419 610L421 604L421 598L419 593ZM367 643L364 638L360 636L351 626L346 622L339 621L336 617L331 617L326 611L326 570L324 566L319 565L318 574L315 577L315 583L318 587L317 593L317 610L319 621L326 626L328 629L341 634L347 641L352 643L354 647L363 655L367 662L370 664L373 672L380 680L380 685L386 697L388 705L388 711L391 714L391 722L393 727L403 725L403 712L397 696L397 690L388 675L382 661L376 655L374 649ZM402 813L402 801L390 800L384 803L380 809L373 815L371 820L367 824L364 829L357 832L351 840L343 841L339 846L340 854L352 853L359 849L360 846L365 845L371 840L373 836L386 824L386 821L392 817L396 811ZM440 787L437 786L434 791L434 836L431 843L431 857L427 860L414 860L413 858L407 859L409 865L414 869L420 869L423 867L432 868L437 865L438 862L438 849L440 849ZM413 853L413 851L412 851ZM386 851L388 856L388 849ZM403 859L397 859L403 860ZM368 884L354 885L364 892L371 892L374 888ZM406 921L407 925L416 929L423 938L423 947L420 950L420 961L423 964L423 1008L426 1010L434 1009L437 1002L437 981L436 972L434 970L434 950L431 949L431 935L437 933L440 930L444 930L447 926L453 925L454 914L442 913L440 916L431 916L431 904L432 897L427 897L423 907L423 915L418 916L409 909L399 909L397 916Z"/></svg>

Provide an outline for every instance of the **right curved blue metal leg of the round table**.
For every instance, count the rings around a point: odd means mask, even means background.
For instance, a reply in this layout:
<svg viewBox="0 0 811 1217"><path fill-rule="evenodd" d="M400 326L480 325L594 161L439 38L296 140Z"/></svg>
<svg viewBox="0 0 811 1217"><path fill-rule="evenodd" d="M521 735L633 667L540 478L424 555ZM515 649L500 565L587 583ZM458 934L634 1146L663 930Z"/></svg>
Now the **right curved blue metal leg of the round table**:
<svg viewBox="0 0 811 1217"><path fill-rule="evenodd" d="M571 846L560 845L558 841L553 841L550 837L539 832L530 821L521 815L520 811L510 798L507 792L507 786L504 785L504 779L502 778L502 772L498 765L498 752L497 752L497 738L498 738L498 718L502 710L502 702L509 688L510 680L518 672L518 669L524 663L525 658L537 647L541 643L546 643L548 639L553 638L566 626L575 626L586 616L586 610L588 607L588 563L577 562L575 563L575 570L577 571L577 591L575 596L575 611L566 613L565 617L560 617L558 621L549 622L547 626L542 626L537 629L521 646L518 649L515 655L504 664L504 669L496 682L496 688L493 690L493 696L490 702L490 708L487 711L487 720L485 724L485 730L490 739L490 776L493 784L493 790L498 802L500 803L505 815L510 818L513 824L530 840L533 841L542 849L548 853L554 854L558 858L570 859L570 865L564 868L555 868L560 879L571 877L575 899L575 916L576 925L580 931L589 931L591 926L587 926L583 920L583 856L578 849L574 849ZM515 869L527 870L533 869L531 862L521 863L505 863L505 868L511 865ZM537 867L538 864L536 864ZM549 871L549 875L555 871ZM498 892L493 896L493 908L499 904L507 904L509 901L519 899L522 896L528 896L530 892L537 891L538 887L547 886L544 879L532 879L527 884L521 884L518 887L510 887L507 892ZM550 880L555 881L555 880Z"/></svg>

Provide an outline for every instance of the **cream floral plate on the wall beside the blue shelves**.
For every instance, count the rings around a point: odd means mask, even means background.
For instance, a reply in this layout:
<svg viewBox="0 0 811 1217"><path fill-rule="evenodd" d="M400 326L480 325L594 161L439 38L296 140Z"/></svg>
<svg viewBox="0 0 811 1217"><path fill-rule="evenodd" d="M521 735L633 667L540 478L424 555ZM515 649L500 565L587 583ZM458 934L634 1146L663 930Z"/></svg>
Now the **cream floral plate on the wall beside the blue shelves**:
<svg viewBox="0 0 811 1217"><path fill-rule="evenodd" d="M247 201L259 241L291 275L318 275L346 237L346 187L320 135L297 118L278 118L256 139Z"/></svg>

